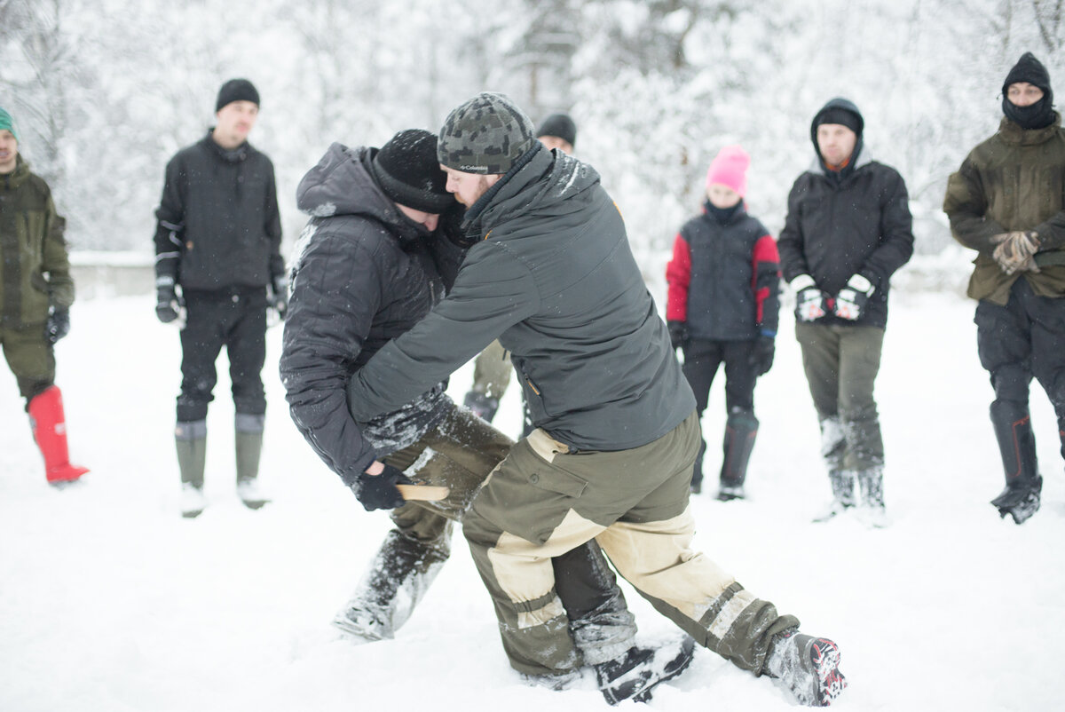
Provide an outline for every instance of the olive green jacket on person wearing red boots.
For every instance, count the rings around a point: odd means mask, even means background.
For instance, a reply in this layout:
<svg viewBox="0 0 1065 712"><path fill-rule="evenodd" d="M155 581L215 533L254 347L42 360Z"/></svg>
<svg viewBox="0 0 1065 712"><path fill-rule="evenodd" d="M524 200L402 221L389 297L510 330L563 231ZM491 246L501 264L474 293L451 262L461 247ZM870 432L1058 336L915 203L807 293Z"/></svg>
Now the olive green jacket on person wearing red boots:
<svg viewBox="0 0 1065 712"><path fill-rule="evenodd" d="M0 327L44 324L49 306L73 303L73 280L52 193L18 157L0 175Z"/></svg>

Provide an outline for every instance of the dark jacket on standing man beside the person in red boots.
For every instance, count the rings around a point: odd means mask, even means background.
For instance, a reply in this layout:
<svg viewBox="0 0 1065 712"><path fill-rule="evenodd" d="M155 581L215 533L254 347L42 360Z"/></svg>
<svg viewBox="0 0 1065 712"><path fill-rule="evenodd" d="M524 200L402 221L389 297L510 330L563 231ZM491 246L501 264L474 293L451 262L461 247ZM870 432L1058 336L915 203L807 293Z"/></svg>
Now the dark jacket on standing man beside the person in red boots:
<svg viewBox="0 0 1065 712"><path fill-rule="evenodd" d="M274 164L208 133L166 164L155 211L155 274L184 289L265 287L284 274Z"/></svg>

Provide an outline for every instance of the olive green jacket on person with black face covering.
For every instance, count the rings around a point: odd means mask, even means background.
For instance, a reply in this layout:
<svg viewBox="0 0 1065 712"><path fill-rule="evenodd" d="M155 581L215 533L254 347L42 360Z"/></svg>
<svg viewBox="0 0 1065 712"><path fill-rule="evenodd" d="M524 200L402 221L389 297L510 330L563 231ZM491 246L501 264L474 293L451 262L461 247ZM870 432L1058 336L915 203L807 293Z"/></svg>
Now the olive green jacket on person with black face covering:
<svg viewBox="0 0 1065 712"><path fill-rule="evenodd" d="M972 149L947 181L943 209L954 239L976 249L968 295L1005 305L1023 276L1041 296L1065 296L1065 129L1061 114L1042 129L1007 118ZM1035 230L1039 272L1005 274L995 262L993 236Z"/></svg>

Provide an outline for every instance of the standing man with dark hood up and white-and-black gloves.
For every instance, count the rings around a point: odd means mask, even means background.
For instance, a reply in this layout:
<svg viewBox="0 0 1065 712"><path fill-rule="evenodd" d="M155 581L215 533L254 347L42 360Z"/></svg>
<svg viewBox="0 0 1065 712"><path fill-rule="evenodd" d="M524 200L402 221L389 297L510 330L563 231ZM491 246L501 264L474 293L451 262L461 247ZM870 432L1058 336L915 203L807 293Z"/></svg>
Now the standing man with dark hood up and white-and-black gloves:
<svg viewBox="0 0 1065 712"><path fill-rule="evenodd" d="M884 443L873 385L887 325L890 278L914 253L899 173L873 160L865 119L835 98L810 124L816 158L791 187L777 240L796 294L796 337L821 427L832 484L825 517L854 506L884 523Z"/></svg>

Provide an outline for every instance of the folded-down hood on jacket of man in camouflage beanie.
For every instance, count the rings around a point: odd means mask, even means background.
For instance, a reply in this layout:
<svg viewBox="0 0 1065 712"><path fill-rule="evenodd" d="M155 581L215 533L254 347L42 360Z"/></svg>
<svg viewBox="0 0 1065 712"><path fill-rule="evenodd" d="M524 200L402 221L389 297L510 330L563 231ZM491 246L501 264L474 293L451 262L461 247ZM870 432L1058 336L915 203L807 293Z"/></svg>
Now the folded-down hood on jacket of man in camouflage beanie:
<svg viewBox="0 0 1065 712"><path fill-rule="evenodd" d="M477 230L487 237L496 225L518 216L558 217L577 212L592 199L591 189L599 182L599 173L587 163L540 146L518 171L504 176L466 233Z"/></svg>

